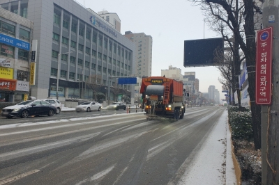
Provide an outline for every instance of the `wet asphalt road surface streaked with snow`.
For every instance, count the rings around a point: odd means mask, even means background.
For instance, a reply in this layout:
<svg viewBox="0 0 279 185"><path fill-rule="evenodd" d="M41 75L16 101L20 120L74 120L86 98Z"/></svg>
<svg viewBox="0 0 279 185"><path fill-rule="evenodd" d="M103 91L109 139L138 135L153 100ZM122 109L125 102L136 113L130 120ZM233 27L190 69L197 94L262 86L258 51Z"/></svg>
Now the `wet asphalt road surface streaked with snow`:
<svg viewBox="0 0 279 185"><path fill-rule="evenodd" d="M126 111L1 119L0 185L177 184L223 111L188 108L178 121Z"/></svg>

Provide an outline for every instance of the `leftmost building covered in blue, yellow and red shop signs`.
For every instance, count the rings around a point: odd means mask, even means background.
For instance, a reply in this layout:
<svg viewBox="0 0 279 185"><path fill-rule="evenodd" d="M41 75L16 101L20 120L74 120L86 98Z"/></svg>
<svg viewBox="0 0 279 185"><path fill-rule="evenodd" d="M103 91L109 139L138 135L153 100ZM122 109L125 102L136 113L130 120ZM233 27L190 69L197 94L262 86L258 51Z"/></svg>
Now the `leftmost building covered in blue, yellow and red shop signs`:
<svg viewBox="0 0 279 185"><path fill-rule="evenodd" d="M24 18L26 3L0 6L0 102L22 102L29 94L33 22Z"/></svg>

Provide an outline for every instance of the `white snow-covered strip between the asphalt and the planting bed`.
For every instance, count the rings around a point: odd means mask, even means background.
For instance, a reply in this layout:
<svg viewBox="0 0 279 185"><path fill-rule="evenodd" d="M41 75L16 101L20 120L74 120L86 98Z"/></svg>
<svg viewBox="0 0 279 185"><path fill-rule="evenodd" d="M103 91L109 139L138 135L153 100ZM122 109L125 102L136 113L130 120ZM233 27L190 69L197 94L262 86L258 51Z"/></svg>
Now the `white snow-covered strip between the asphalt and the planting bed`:
<svg viewBox="0 0 279 185"><path fill-rule="evenodd" d="M236 184L227 129L227 111L224 111L179 184Z"/></svg>

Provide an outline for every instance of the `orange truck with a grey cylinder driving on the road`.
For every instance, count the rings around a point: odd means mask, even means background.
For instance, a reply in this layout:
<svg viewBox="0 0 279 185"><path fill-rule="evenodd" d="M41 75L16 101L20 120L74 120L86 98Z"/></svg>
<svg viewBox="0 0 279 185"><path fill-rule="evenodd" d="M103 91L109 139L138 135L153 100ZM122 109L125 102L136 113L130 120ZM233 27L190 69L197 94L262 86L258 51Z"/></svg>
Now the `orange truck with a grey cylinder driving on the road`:
<svg viewBox="0 0 279 185"><path fill-rule="evenodd" d="M186 90L182 81L165 77L146 77L140 88L142 108L148 118L169 117L179 120L184 117Z"/></svg>

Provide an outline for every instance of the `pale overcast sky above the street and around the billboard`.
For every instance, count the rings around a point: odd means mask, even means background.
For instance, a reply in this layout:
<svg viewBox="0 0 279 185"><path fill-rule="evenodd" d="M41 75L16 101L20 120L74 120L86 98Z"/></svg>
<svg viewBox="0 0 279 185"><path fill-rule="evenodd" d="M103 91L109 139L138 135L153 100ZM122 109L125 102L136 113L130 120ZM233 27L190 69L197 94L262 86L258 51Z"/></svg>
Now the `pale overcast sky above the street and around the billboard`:
<svg viewBox="0 0 279 185"><path fill-rule="evenodd" d="M121 19L121 33L132 31L151 35L153 38L152 76L160 76L169 65L184 72L196 72L199 91L207 93L209 86L216 86L220 99L225 98L218 81L220 71L216 67L184 67L184 40L218 38L208 26L199 6L187 0L76 0L98 13L107 10L117 13ZM201 51L202 52L202 51Z"/></svg>

